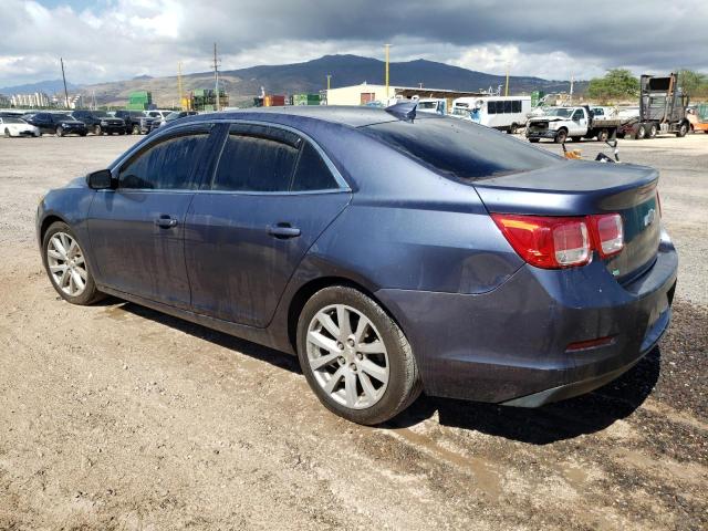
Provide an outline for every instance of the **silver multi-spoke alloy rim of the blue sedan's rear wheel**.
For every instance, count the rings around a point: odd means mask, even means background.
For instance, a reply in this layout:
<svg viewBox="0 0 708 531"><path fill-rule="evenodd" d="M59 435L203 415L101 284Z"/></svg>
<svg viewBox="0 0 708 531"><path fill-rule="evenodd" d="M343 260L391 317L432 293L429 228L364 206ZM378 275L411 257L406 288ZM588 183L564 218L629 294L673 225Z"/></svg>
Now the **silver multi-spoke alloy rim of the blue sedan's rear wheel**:
<svg viewBox="0 0 708 531"><path fill-rule="evenodd" d="M362 312L344 304L320 310L308 326L306 345L315 381L334 402L365 409L384 396L388 353Z"/></svg>

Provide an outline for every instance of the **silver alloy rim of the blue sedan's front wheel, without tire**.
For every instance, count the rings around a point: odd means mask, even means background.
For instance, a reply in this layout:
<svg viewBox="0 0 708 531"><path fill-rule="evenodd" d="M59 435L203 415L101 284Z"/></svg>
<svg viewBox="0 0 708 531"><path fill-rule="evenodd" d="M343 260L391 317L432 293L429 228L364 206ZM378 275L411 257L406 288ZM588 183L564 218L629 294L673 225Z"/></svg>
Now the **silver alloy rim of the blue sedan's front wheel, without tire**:
<svg viewBox="0 0 708 531"><path fill-rule="evenodd" d="M76 240L56 232L46 244L46 263L54 283L69 296L80 296L86 289L88 271Z"/></svg>

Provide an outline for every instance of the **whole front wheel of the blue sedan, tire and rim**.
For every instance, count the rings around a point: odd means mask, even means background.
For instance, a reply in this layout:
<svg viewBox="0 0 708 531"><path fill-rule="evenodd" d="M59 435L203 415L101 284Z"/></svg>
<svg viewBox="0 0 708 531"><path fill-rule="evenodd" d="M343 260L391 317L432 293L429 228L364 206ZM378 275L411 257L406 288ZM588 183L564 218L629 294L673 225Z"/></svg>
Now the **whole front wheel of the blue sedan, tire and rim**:
<svg viewBox="0 0 708 531"><path fill-rule="evenodd" d="M62 299L84 305L103 298L71 227L52 223L42 238L42 250L46 274Z"/></svg>

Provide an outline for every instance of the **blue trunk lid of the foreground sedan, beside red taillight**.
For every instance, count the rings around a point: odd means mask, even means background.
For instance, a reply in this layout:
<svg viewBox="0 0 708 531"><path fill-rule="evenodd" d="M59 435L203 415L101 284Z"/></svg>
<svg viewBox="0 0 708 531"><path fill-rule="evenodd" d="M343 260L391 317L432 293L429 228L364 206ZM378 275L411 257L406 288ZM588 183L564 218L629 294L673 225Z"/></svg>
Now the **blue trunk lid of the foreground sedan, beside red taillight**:
<svg viewBox="0 0 708 531"><path fill-rule="evenodd" d="M622 216L624 249L605 260L621 282L652 267L660 238L658 173L631 164L568 160L475 183L490 212L539 216ZM597 258L597 257L595 257Z"/></svg>

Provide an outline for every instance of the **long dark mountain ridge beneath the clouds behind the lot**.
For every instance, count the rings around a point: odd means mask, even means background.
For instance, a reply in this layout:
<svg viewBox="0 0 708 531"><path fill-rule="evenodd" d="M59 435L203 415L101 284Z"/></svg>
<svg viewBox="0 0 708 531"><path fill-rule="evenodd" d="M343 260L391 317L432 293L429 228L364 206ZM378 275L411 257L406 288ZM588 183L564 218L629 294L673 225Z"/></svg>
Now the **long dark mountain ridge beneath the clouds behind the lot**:
<svg viewBox="0 0 708 531"><path fill-rule="evenodd" d="M435 61L416 60L391 63L391 84L398 86L423 86L429 88L452 88L458 91L479 91L490 86L503 85L504 76L476 72ZM326 86L326 76L332 75L331 86L347 86L364 81L373 84L384 83L384 62L357 55L324 55L304 63L260 65L247 69L219 72L219 86L230 96L230 105L248 104L252 97L266 87L270 94L295 94L319 92ZM185 93L195 88L211 88L215 85L214 73L202 72L183 75ZM583 91L586 84L575 83L575 92ZM548 92L568 92L568 81L549 81L540 77L511 76L511 94L530 93L534 90ZM95 94L100 105L125 105L133 91L150 91L153 101L158 105L178 104L177 77L139 76L133 80L101 83L84 86L87 97Z"/></svg>

